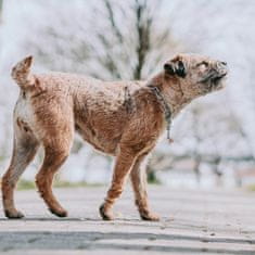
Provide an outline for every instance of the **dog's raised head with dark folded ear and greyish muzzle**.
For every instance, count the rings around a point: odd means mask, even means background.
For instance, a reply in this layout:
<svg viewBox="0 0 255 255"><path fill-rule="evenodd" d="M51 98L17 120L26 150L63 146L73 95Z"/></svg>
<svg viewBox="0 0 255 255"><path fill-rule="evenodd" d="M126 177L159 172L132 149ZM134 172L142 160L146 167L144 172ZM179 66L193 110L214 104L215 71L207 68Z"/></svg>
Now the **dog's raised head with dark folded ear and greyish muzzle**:
<svg viewBox="0 0 255 255"><path fill-rule="evenodd" d="M182 93L193 99L225 86L227 63L197 54L179 54L164 65L166 78L171 78Z"/></svg>

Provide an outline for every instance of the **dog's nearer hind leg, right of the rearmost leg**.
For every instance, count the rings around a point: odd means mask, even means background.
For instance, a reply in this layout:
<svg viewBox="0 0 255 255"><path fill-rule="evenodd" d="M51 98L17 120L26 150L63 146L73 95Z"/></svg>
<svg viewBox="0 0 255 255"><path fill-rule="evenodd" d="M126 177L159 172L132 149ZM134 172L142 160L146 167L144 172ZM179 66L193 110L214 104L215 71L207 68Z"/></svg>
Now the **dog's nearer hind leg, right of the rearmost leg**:
<svg viewBox="0 0 255 255"><path fill-rule="evenodd" d="M59 217L66 217L67 212L60 205L52 192L54 174L63 165L69 155L73 143L74 128L54 132L44 141L44 160L39 173L36 176L36 183L41 197L44 200L50 212Z"/></svg>

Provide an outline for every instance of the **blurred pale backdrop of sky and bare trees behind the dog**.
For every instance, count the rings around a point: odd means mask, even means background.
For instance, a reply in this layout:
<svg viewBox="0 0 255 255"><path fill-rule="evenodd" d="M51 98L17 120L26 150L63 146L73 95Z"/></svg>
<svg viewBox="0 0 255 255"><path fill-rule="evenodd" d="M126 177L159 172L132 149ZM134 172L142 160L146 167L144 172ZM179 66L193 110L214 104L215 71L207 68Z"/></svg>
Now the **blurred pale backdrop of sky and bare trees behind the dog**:
<svg viewBox="0 0 255 255"><path fill-rule="evenodd" d="M0 170L12 145L18 89L12 65L35 56L35 72L61 71L100 79L148 79L178 52L227 61L225 91L189 105L148 166L149 179L173 187L234 188L255 183L255 20L253 0L0 0ZM43 153L25 180L34 178ZM104 183L112 158L78 137L60 182ZM25 182L24 182L25 183Z"/></svg>

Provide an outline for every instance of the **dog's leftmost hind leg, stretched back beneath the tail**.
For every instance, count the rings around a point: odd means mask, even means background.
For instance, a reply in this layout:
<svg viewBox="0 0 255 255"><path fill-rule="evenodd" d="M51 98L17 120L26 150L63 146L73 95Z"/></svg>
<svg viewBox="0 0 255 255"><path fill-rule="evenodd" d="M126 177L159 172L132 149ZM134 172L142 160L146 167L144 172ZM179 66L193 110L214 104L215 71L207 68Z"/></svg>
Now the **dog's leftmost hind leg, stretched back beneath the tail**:
<svg viewBox="0 0 255 255"><path fill-rule="evenodd" d="M39 142L26 126L14 127L14 142L11 164L2 178L2 203L8 218L24 217L14 205L14 189L21 175L33 161Z"/></svg>

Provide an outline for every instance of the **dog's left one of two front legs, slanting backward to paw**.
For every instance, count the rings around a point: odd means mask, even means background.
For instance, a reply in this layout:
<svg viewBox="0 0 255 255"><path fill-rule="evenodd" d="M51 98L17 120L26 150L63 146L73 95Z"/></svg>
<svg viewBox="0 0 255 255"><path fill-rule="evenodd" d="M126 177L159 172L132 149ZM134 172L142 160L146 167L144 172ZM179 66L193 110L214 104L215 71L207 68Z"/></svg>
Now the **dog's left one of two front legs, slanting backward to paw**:
<svg viewBox="0 0 255 255"><path fill-rule="evenodd" d="M127 175L130 173L137 155L130 150L120 150L116 158L112 184L107 191L104 203L100 206L100 215L104 220L114 219L112 206L123 192Z"/></svg>

